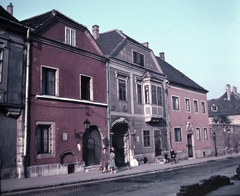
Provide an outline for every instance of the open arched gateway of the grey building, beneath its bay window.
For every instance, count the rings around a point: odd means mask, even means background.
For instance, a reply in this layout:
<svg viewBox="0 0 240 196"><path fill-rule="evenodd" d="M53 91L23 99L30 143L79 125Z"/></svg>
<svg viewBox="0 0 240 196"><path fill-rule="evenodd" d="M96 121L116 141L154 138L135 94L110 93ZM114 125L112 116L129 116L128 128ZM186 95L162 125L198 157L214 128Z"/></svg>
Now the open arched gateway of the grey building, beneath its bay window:
<svg viewBox="0 0 240 196"><path fill-rule="evenodd" d="M111 130L111 146L116 154L116 165L124 166L131 157L131 136L129 126L125 121L115 123Z"/></svg>

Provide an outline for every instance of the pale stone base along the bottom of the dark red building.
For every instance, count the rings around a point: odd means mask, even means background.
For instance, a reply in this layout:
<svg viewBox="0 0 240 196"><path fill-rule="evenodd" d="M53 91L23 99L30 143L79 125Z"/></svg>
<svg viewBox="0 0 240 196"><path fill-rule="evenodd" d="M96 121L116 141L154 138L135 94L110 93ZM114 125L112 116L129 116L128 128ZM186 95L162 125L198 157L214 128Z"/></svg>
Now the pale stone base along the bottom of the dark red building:
<svg viewBox="0 0 240 196"><path fill-rule="evenodd" d="M53 176L85 171L84 164L51 164L27 167L27 177Z"/></svg>

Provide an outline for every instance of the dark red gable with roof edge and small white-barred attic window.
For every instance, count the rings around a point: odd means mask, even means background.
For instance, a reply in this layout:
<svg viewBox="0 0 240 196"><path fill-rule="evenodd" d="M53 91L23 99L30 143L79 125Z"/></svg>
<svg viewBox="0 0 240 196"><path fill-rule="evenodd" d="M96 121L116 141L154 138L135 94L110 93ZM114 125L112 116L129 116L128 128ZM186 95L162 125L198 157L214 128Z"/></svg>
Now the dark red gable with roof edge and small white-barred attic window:
<svg viewBox="0 0 240 196"><path fill-rule="evenodd" d="M56 10L21 21L34 30L33 34L103 55L89 30ZM66 28L68 30L66 31ZM68 35L68 36L67 36Z"/></svg>

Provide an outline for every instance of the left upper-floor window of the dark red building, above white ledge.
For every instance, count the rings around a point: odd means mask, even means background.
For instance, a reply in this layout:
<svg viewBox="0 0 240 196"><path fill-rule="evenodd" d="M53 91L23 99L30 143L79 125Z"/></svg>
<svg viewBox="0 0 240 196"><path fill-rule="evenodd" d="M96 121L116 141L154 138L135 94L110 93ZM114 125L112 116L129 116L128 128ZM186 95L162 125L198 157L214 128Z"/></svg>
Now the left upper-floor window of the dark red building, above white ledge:
<svg viewBox="0 0 240 196"><path fill-rule="evenodd" d="M42 67L42 94L57 95L56 93L56 69Z"/></svg>

